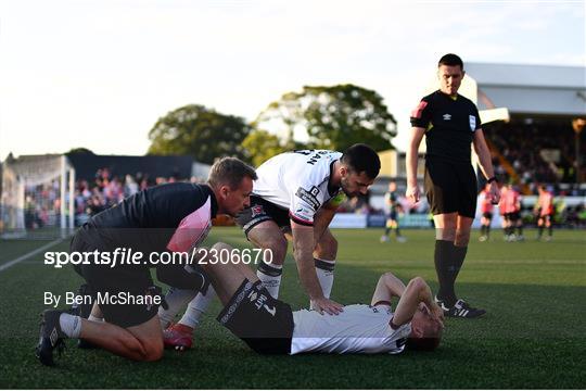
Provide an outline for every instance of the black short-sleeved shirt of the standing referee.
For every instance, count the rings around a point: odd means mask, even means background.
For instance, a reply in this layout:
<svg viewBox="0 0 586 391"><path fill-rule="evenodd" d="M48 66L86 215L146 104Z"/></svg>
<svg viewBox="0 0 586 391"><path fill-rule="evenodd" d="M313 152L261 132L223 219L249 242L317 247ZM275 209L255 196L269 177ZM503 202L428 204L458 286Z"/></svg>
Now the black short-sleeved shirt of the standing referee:
<svg viewBox="0 0 586 391"><path fill-rule="evenodd" d="M425 157L470 163L470 144L481 128L476 105L468 98L455 98L437 90L424 97L411 113L411 125L425 130Z"/></svg>

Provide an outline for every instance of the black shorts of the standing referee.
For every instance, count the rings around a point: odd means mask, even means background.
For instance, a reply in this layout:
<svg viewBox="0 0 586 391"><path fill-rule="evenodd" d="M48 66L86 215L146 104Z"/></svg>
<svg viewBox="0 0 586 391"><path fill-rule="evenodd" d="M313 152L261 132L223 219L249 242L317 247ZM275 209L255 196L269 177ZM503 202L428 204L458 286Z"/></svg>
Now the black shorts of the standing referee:
<svg viewBox="0 0 586 391"><path fill-rule="evenodd" d="M474 218L476 214L476 174L471 164L425 157L425 193L433 215L458 213Z"/></svg>

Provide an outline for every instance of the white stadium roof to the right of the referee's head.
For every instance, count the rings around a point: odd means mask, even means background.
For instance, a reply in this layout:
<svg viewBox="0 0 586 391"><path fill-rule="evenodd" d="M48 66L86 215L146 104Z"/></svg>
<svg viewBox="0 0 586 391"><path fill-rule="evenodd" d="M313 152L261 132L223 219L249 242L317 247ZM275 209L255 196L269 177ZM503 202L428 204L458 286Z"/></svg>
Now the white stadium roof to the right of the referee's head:
<svg viewBox="0 0 586 391"><path fill-rule="evenodd" d="M467 63L464 68L495 106L512 115L586 115L586 67ZM481 99L479 105L492 109Z"/></svg>

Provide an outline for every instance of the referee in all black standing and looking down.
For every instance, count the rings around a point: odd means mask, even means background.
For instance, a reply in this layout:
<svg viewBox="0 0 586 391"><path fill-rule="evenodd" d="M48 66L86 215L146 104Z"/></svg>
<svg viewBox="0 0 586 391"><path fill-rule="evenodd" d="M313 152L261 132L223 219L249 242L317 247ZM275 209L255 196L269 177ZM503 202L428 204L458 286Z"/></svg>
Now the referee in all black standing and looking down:
<svg viewBox="0 0 586 391"><path fill-rule="evenodd" d="M491 185L489 197L498 203L491 152L484 140L476 105L458 93L464 76L462 60L446 54L437 64L440 89L424 97L411 113L407 149L407 191L412 202L420 198L417 184L418 150L425 136L425 194L435 223L435 270L440 290L435 297L446 316L474 318L486 313L458 300L454 285L466 258L470 229L476 210L476 176L470 144Z"/></svg>

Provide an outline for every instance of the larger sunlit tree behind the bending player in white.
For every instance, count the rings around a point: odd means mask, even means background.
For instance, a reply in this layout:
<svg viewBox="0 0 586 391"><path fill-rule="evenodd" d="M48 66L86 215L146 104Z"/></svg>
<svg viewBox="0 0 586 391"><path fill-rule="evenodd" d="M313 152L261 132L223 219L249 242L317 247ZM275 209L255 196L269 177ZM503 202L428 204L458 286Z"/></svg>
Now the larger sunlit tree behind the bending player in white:
<svg viewBox="0 0 586 391"><path fill-rule="evenodd" d="M308 148L344 150L364 142L377 151L394 148L396 121L382 97L352 84L305 86L272 102L254 123L256 128L280 126L291 143L296 131L307 131Z"/></svg>

